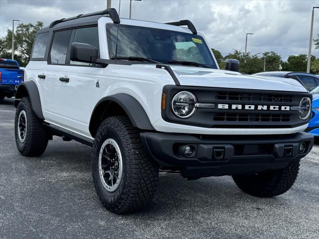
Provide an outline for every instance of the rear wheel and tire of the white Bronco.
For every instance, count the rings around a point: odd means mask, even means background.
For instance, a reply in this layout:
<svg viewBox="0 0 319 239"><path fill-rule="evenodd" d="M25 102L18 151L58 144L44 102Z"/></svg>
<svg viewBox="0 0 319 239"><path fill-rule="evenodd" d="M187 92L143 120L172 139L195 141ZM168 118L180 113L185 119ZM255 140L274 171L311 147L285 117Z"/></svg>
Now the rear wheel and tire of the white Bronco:
<svg viewBox="0 0 319 239"><path fill-rule="evenodd" d="M23 97L16 108L14 134L16 147L23 156L40 156L45 151L48 134L28 97Z"/></svg>

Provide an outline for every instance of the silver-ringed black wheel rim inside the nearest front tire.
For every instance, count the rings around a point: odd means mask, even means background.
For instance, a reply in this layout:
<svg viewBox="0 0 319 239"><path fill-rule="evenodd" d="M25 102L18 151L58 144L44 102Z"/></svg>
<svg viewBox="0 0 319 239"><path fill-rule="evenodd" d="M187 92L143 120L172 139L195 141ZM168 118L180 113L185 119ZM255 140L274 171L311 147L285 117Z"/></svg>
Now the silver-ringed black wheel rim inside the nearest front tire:
<svg viewBox="0 0 319 239"><path fill-rule="evenodd" d="M102 184L109 192L114 192L122 179L122 154L117 142L108 138L101 146L99 154L99 172Z"/></svg>

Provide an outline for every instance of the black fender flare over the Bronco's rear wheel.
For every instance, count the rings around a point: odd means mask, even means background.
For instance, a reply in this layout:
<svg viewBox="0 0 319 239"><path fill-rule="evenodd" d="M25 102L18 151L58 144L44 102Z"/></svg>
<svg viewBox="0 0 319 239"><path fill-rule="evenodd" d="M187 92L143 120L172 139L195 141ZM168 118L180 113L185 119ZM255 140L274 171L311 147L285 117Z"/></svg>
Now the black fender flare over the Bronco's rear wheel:
<svg viewBox="0 0 319 239"><path fill-rule="evenodd" d="M15 101L14 107L16 108L20 102L22 97L28 96L31 101L31 107L34 111L35 115L40 118L44 119L41 107L41 100L39 95L39 90L36 84L33 81L22 82L19 84L18 89L15 93Z"/></svg>

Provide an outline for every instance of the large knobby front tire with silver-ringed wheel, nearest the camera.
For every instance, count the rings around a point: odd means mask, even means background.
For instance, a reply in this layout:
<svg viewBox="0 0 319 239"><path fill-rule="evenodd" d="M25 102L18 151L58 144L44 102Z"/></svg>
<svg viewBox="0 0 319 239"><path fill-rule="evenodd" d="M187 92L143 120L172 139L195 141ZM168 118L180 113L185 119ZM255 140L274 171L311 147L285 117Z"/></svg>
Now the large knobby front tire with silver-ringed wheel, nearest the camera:
<svg viewBox="0 0 319 239"><path fill-rule="evenodd" d="M110 117L94 140L92 174L104 206L123 214L146 208L156 191L159 168L146 156L139 131L130 120Z"/></svg>

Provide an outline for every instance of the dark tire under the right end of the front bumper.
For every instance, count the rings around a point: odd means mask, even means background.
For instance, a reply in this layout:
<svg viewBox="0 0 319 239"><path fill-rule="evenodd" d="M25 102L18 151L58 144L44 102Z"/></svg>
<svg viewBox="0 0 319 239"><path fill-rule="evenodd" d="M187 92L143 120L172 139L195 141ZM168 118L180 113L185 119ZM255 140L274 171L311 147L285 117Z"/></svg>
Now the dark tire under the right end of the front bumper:
<svg viewBox="0 0 319 239"><path fill-rule="evenodd" d="M295 183L300 160L289 163L285 168L256 173L235 175L236 185L245 193L255 197L274 197L287 192Z"/></svg>

